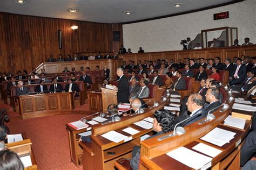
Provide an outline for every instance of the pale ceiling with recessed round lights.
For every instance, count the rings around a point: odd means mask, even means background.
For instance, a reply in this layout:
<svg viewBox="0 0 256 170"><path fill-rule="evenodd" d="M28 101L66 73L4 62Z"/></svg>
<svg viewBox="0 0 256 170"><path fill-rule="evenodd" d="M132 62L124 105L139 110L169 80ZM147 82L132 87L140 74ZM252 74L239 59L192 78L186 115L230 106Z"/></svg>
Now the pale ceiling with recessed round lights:
<svg viewBox="0 0 256 170"><path fill-rule="evenodd" d="M234 0L27 0L17 4L15 0L0 0L0 11L30 16L84 20L97 23L125 23L136 20L172 15ZM181 8L173 8L182 3ZM76 13L67 9L79 8ZM133 11L125 15L124 11Z"/></svg>

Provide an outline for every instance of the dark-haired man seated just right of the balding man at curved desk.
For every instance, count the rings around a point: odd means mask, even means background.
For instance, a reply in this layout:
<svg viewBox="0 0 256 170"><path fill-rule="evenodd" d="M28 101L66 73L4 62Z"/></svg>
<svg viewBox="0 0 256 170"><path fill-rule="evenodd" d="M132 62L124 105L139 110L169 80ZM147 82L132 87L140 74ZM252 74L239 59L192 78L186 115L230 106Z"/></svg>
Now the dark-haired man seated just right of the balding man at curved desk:
<svg viewBox="0 0 256 170"><path fill-rule="evenodd" d="M205 99L206 99L206 102L208 102L208 106L205 107L205 111L208 113L208 111L212 110L212 112L214 112L215 110L217 109L214 109L216 107L218 107L220 105L220 102L219 102L219 95L220 95L220 91L217 89L217 88L209 88L207 91L206 91L206 94L205 94Z"/></svg>

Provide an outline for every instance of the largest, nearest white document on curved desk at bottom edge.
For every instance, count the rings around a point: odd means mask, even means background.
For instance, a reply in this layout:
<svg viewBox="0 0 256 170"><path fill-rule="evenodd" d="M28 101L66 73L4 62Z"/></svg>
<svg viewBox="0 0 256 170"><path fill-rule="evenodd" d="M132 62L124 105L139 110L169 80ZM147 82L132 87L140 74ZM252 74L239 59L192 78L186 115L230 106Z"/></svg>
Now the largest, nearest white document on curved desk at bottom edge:
<svg viewBox="0 0 256 170"><path fill-rule="evenodd" d="M169 157L185 164L194 169L200 169L207 165L211 166L212 158L206 157L203 154L189 150L186 147L179 147L176 150L166 153ZM205 167L207 168L207 167Z"/></svg>

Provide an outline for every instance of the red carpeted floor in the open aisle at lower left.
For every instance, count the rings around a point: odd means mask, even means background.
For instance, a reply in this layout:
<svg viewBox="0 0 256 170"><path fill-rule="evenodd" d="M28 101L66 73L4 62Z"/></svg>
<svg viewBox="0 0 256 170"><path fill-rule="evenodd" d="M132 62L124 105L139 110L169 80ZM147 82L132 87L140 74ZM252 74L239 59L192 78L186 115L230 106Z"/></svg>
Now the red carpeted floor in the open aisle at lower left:
<svg viewBox="0 0 256 170"><path fill-rule="evenodd" d="M86 115L56 115L9 122L11 134L25 132L32 141L38 169L82 169L71 163L65 124Z"/></svg>

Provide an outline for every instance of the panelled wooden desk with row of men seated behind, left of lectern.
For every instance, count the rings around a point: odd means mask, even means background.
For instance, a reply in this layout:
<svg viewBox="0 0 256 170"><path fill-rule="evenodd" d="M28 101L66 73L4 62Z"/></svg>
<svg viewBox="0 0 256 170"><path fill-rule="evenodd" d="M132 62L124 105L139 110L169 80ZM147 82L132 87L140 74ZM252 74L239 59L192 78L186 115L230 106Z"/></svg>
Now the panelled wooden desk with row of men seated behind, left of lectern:
<svg viewBox="0 0 256 170"><path fill-rule="evenodd" d="M18 105L23 119L58 115L74 109L74 96L70 92L19 96Z"/></svg>

